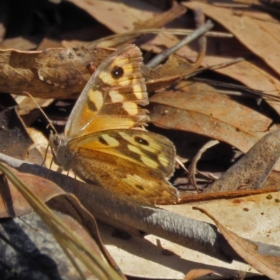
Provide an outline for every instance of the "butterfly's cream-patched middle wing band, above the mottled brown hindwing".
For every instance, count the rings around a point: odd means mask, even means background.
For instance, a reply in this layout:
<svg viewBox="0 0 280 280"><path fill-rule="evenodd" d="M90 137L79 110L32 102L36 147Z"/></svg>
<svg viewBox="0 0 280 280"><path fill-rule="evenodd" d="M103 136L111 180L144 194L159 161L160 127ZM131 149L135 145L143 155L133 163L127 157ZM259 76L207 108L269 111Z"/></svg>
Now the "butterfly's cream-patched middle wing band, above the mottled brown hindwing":
<svg viewBox="0 0 280 280"><path fill-rule="evenodd" d="M175 149L160 134L144 130L107 130L69 141L69 151L80 149L116 155L131 164L155 170L169 178L174 172Z"/></svg>

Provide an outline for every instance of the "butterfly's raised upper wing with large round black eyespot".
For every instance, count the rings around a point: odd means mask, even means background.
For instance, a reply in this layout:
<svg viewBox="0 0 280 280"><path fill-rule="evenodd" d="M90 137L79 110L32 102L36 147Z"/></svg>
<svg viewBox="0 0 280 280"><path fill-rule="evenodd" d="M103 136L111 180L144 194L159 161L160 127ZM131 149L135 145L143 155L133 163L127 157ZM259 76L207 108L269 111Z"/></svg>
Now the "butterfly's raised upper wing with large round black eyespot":
<svg viewBox="0 0 280 280"><path fill-rule="evenodd" d="M134 45L109 55L80 94L66 124L66 136L146 125L147 111L138 106L148 104L141 66L141 52Z"/></svg>

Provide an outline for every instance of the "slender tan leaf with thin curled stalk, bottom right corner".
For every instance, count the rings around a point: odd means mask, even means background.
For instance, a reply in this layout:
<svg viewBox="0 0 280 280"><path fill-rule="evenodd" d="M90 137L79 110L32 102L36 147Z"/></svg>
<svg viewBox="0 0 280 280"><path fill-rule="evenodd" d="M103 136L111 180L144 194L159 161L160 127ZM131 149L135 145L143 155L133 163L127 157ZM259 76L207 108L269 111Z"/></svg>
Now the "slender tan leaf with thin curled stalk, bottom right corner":
<svg viewBox="0 0 280 280"><path fill-rule="evenodd" d="M200 207L193 207L195 210L200 210L211 218L218 229L221 231L230 246L243 258L249 265L257 269L262 274L265 274L270 279L277 280L280 277L280 258L274 255L263 255L259 253L258 246L252 241L248 241L239 237L234 232L225 228L219 223L214 216L211 216L207 211Z"/></svg>

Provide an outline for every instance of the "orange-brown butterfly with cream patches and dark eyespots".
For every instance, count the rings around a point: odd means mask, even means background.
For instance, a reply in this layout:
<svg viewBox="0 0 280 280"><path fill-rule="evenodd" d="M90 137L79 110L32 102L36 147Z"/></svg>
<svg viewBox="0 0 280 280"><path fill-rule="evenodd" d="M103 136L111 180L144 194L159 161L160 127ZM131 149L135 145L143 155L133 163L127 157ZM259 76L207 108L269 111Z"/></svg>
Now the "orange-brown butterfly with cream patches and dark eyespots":
<svg viewBox="0 0 280 280"><path fill-rule="evenodd" d="M52 135L55 162L87 183L152 204L178 201L167 181L175 148L148 132L142 55L136 45L116 50L100 64L71 111L64 136ZM140 106L139 106L140 105Z"/></svg>

